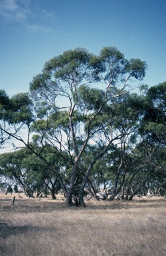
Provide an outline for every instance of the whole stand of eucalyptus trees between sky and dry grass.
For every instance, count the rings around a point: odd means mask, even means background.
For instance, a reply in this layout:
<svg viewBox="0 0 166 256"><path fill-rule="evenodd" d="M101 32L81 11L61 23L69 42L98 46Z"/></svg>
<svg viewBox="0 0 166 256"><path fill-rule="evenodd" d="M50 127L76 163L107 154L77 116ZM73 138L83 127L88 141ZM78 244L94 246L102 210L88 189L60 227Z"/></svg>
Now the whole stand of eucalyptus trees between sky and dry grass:
<svg viewBox="0 0 166 256"><path fill-rule="evenodd" d="M82 207L98 193L165 195L166 82L143 84L146 70L116 47L77 48L46 62L29 92L1 89L1 191Z"/></svg>

